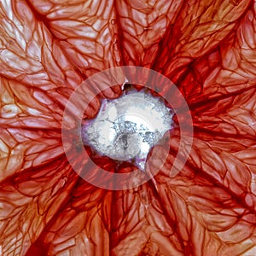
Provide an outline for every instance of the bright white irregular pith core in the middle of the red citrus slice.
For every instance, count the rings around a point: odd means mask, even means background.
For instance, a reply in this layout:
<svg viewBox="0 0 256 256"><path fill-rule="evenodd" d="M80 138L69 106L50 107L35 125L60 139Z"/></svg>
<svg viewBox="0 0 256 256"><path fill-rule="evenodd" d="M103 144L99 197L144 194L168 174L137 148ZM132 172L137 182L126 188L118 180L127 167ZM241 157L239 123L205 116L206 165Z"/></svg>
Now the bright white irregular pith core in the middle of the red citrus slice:
<svg viewBox="0 0 256 256"><path fill-rule="evenodd" d="M172 113L158 98L131 92L103 100L95 119L82 127L84 143L114 160L132 160L144 170L149 150L172 128Z"/></svg>

